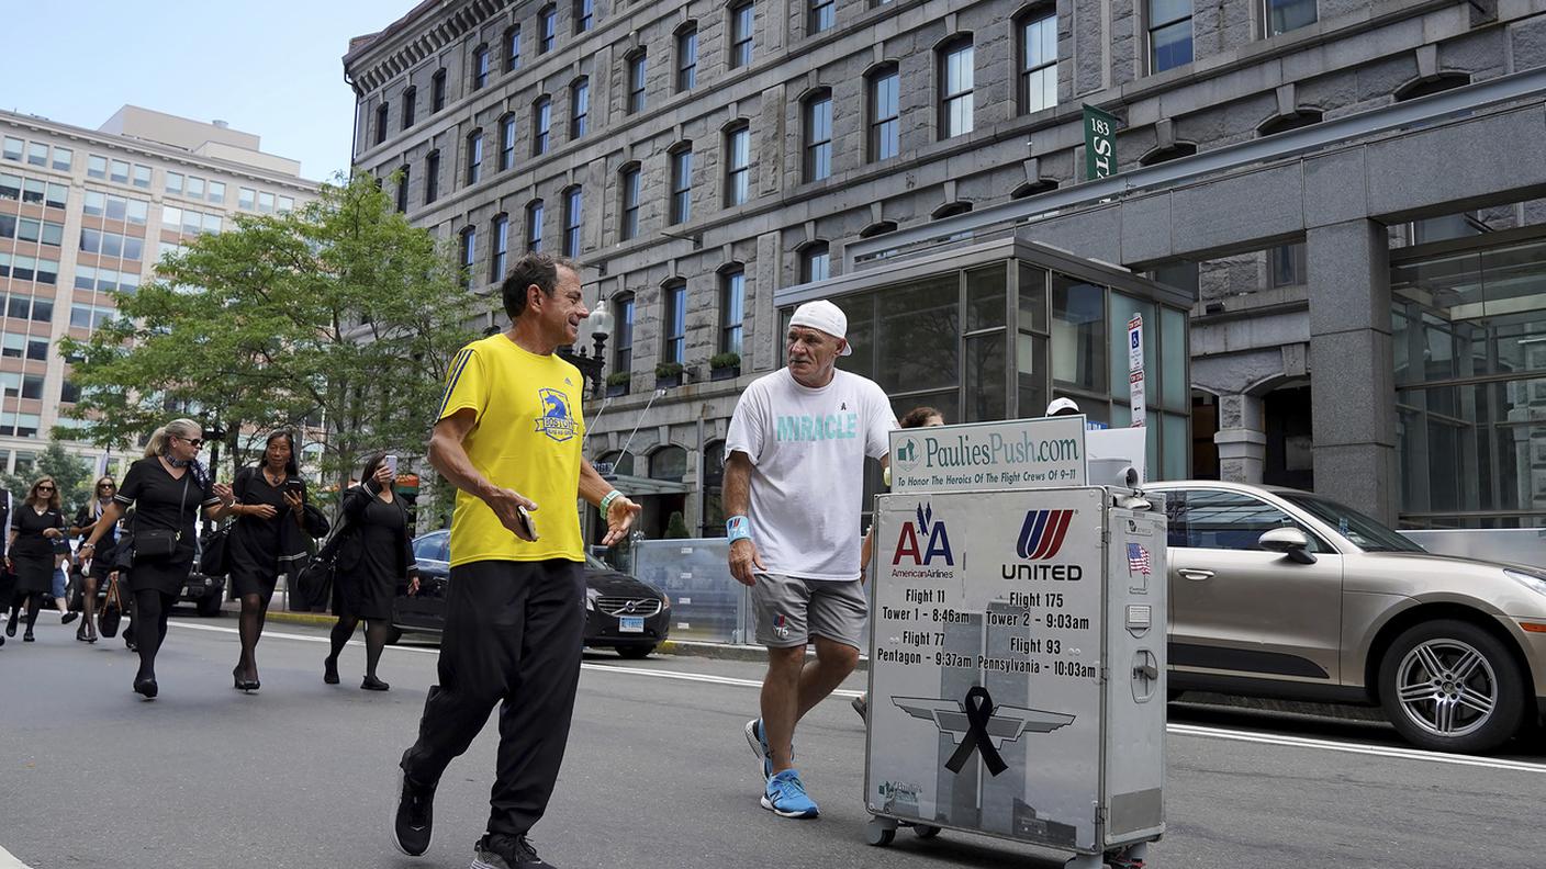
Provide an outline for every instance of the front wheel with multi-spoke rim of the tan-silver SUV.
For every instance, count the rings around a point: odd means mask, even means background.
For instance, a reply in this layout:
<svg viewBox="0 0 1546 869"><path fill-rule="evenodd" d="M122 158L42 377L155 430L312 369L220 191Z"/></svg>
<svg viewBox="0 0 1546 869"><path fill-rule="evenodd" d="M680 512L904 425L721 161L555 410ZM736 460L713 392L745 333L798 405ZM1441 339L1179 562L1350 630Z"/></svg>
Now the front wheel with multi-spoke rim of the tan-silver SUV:
<svg viewBox="0 0 1546 869"><path fill-rule="evenodd" d="M1524 717L1524 677L1509 649L1467 622L1408 628L1379 665L1385 716L1411 744L1490 751Z"/></svg>

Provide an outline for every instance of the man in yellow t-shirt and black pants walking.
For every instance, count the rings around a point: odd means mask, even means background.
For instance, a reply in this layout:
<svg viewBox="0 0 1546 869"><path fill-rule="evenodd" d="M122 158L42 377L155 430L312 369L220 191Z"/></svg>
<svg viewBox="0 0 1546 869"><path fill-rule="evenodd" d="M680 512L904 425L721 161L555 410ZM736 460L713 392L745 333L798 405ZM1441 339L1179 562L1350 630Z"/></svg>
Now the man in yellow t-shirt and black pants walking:
<svg viewBox="0 0 1546 869"><path fill-rule="evenodd" d="M456 486L439 685L400 762L393 823L404 854L428 850L434 787L499 704L489 832L475 866L541 869L526 840L552 796L580 682L584 543L575 498L606 516L604 544L638 506L580 455L584 377L555 356L589 315L580 266L546 254L515 261L502 286L510 328L456 354L430 465Z"/></svg>

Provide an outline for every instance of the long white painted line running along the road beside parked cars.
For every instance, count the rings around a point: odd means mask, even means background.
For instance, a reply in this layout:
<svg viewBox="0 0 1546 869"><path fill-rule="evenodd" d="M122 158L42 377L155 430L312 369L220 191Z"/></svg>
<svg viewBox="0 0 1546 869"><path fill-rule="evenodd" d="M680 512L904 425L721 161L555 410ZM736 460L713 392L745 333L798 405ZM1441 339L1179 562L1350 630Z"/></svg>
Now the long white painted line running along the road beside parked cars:
<svg viewBox="0 0 1546 869"><path fill-rule="evenodd" d="M237 628L223 628L218 625L195 625L190 622L172 622L178 628L190 628L195 631L213 631L221 634L237 634ZM308 643L326 643L328 637L311 637L306 634L288 634L264 631L264 637L277 637L281 640L303 640ZM363 646L362 640L349 640L351 646ZM438 648L417 648L417 646L386 646L388 651L404 651L417 654L439 654ZM707 682L713 685L731 685L736 688L762 688L762 682L756 679L737 679L734 676L710 676L703 673L679 673L674 670L648 670L642 666L615 666L609 663L581 663L581 670L604 671L604 673L620 673L625 676L649 676L652 679L676 679L680 682ZM833 691L838 697L858 697L863 691L849 691L838 688ZM1484 767L1493 770L1510 770L1523 773L1546 773L1546 764L1529 762L1529 761L1504 761L1497 758L1476 758L1469 755L1446 755L1442 751L1425 751L1422 748L1396 748L1387 745L1359 745L1356 742L1339 742L1336 739L1309 739L1305 736L1286 736L1272 733L1251 733L1248 730L1228 730L1223 727L1203 727L1197 724L1167 724L1166 730L1177 736L1195 736L1201 739L1224 739L1232 742L1257 742L1262 745L1280 745L1286 748L1319 748L1322 751L1342 751L1350 755L1370 755L1376 758L1396 758L1404 761L1427 761L1433 764L1450 764L1461 767ZM5 869L0 864L0 869Z"/></svg>

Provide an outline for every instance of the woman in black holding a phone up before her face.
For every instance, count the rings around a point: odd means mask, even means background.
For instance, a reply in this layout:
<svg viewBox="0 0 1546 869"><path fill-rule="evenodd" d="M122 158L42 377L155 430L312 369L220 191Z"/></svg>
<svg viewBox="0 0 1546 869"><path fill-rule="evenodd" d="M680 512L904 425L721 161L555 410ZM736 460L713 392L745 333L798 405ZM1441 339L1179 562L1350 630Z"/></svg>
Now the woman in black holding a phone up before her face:
<svg viewBox="0 0 1546 869"><path fill-rule="evenodd" d="M339 683L339 653L348 645L354 626L365 620L365 680L360 688L385 691L391 685L376 677L376 663L391 629L391 601L397 586L408 594L419 591L419 567L413 560L408 510L393 492L393 467L377 453L365 462L365 482L343 495L335 580L332 584L332 653L323 662L322 680Z"/></svg>

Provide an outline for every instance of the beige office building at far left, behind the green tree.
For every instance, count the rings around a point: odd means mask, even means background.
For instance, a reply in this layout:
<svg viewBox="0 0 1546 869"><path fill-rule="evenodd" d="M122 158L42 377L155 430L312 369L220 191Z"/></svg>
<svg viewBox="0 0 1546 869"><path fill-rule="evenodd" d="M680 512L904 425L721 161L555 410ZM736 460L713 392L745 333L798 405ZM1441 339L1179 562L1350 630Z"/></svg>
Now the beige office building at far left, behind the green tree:
<svg viewBox="0 0 1546 869"><path fill-rule="evenodd" d="M113 317L108 291L153 280L162 254L233 215L294 209L317 184L258 136L133 105L97 130L0 111L0 467L25 473L56 425L76 425L60 413L79 397L60 337Z"/></svg>

